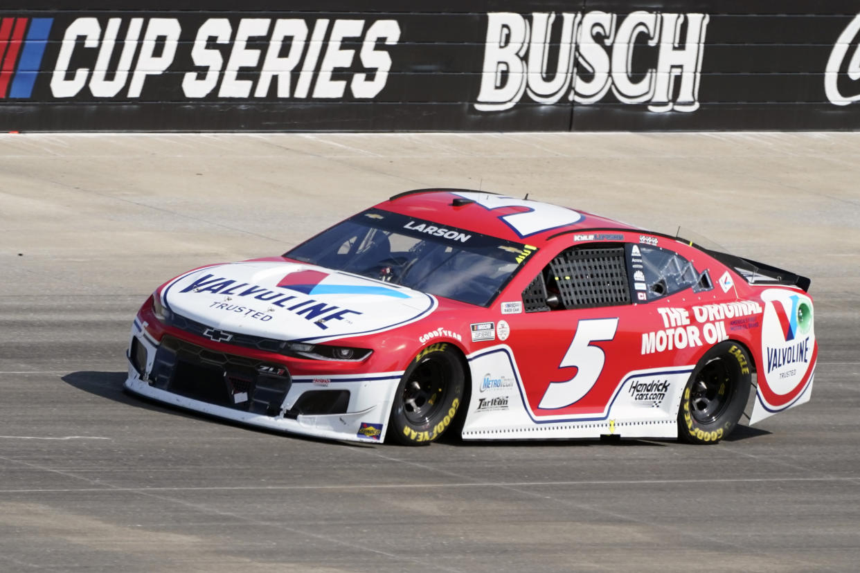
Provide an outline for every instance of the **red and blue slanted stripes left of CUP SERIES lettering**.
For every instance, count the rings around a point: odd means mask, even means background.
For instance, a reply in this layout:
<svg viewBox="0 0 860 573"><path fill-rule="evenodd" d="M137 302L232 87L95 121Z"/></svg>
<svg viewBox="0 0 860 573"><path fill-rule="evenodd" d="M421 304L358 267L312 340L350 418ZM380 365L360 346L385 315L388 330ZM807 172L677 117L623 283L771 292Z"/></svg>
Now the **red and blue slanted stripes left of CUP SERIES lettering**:
<svg viewBox="0 0 860 573"><path fill-rule="evenodd" d="M52 23L53 18L0 18L0 98L33 94Z"/></svg>

